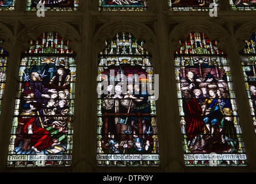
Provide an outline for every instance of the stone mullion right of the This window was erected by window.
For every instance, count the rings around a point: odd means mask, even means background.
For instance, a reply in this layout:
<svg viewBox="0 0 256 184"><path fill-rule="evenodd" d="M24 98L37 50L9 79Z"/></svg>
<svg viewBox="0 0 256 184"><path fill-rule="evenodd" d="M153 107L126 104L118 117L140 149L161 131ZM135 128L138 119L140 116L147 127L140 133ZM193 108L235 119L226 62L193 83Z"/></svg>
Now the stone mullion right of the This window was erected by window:
<svg viewBox="0 0 256 184"><path fill-rule="evenodd" d="M237 48L237 43L233 42L233 47ZM244 75L242 71L242 65L240 63L240 55L237 49L229 49L228 60L230 61L230 70L235 92L236 105L238 106L239 123L242 129L242 137L244 147L247 155L249 167L247 171L255 171L256 163L256 133L254 132L253 119L251 116L251 110L249 105L249 98L244 84Z"/></svg>

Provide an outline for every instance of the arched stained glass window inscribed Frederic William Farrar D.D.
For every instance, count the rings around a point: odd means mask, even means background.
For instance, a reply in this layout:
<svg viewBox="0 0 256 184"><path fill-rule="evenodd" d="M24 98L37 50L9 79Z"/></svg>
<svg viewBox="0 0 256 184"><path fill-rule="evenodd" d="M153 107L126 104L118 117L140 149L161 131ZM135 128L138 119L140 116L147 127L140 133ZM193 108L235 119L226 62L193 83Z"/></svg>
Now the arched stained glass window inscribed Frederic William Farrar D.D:
<svg viewBox="0 0 256 184"><path fill-rule="evenodd" d="M70 166L75 53L55 32L22 53L7 166Z"/></svg>

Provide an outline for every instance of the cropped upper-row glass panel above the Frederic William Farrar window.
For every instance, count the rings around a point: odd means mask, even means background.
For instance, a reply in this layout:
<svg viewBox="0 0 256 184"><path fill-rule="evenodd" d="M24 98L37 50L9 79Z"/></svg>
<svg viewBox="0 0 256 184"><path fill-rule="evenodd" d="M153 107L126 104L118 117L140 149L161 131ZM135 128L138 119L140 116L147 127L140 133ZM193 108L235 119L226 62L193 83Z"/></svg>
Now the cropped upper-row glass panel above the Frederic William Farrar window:
<svg viewBox="0 0 256 184"><path fill-rule="evenodd" d="M44 4L44 10L75 11L78 8L78 0L27 0L26 9L28 11L37 10L36 6L38 3Z"/></svg>

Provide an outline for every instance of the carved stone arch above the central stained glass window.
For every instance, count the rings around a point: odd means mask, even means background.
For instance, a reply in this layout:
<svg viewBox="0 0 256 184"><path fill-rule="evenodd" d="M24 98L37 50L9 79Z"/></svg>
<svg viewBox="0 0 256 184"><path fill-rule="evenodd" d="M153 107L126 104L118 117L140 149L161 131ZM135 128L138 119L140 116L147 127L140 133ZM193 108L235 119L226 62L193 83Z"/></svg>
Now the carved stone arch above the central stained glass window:
<svg viewBox="0 0 256 184"><path fill-rule="evenodd" d="M129 32L137 40L144 40L143 48L149 51L152 55L156 51L156 35L146 25L135 21L110 21L101 26L94 34L93 43L94 48L98 52L105 48L104 41L112 39L118 32Z"/></svg>

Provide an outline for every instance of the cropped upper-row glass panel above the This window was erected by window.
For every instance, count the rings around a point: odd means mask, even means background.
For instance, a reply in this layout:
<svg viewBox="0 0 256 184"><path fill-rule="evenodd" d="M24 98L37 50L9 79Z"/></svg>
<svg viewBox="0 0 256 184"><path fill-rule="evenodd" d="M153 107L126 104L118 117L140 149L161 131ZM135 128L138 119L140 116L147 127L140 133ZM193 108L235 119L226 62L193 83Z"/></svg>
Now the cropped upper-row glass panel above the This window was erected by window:
<svg viewBox="0 0 256 184"><path fill-rule="evenodd" d="M207 11L211 3L218 0L168 0L170 10L174 11Z"/></svg>

